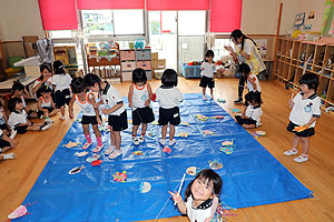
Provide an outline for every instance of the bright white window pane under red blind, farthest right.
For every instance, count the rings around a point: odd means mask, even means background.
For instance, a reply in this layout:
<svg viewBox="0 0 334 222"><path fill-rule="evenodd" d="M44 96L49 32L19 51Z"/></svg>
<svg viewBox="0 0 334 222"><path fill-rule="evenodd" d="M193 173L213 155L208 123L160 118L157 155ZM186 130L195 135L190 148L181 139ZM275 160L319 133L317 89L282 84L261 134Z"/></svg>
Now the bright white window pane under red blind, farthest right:
<svg viewBox="0 0 334 222"><path fill-rule="evenodd" d="M179 11L178 36L204 36L205 11Z"/></svg>

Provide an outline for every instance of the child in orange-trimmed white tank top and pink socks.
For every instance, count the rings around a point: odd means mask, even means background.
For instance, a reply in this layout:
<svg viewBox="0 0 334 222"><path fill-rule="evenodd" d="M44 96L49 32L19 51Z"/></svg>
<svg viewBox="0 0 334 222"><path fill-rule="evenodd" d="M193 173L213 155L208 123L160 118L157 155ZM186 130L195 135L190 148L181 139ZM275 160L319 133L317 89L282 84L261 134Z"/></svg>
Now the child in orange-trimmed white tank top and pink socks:
<svg viewBox="0 0 334 222"><path fill-rule="evenodd" d="M75 101L78 102L79 107L82 110L82 129L84 134L87 140L87 142L84 144L82 149L86 150L91 145L91 138L89 132L89 124L92 125L94 133L96 135L97 140L97 147L92 150L92 152L99 152L102 150L104 144L101 140L101 133L99 131L98 124L101 124L101 117L99 113L99 110L97 108L94 108L96 105L95 97L92 93L88 93L85 89L84 79L81 77L75 78L71 82L71 90L73 92L73 97L69 102L69 112L70 118L73 119L73 103Z"/></svg>

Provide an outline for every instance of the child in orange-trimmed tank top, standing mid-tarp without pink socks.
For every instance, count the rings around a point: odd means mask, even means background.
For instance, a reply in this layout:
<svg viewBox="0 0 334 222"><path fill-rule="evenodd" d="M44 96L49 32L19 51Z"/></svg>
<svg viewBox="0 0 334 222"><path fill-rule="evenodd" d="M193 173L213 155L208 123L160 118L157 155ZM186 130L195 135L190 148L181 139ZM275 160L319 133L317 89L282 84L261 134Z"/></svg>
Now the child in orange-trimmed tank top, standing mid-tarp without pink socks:
<svg viewBox="0 0 334 222"><path fill-rule="evenodd" d="M128 100L129 107L132 108L132 142L138 145L144 142L147 130L147 123L155 120L155 115L149 105L153 95L150 84L147 82L144 69L132 71L132 84L130 84ZM141 134L137 138L137 131L141 123Z"/></svg>

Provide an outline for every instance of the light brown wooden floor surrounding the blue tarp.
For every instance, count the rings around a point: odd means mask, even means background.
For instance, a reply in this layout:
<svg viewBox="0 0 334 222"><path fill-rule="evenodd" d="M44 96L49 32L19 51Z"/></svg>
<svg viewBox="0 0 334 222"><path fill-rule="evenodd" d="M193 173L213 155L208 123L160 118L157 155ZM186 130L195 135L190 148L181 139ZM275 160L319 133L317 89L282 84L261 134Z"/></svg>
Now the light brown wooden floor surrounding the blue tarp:
<svg viewBox="0 0 334 222"><path fill-rule="evenodd" d="M179 78L179 89L183 93L200 92L198 79L186 80ZM150 81L155 90L160 81ZM334 221L334 114L323 112L316 125L316 135L311 139L310 160L305 163L295 163L293 158L284 157L283 151L292 145L293 135L285 130L288 123L289 109L287 101L292 91L284 89L275 81L261 81L263 88L263 125L259 130L266 131L267 137L258 141L304 185L314 191L315 198L268 204L255 208L238 209L237 216L229 221L283 222L283 221ZM114 84L127 95L129 83ZM216 80L215 97L227 100L223 108L230 113L237 94L236 79ZM78 111L78 109L76 109ZM28 132L16 138L16 160L0 163L0 221L4 221L9 209L19 206L39 174L43 170L53 151L71 125L71 120L60 122L53 118L55 125L46 132ZM167 191L166 191L167 192ZM57 212L55 212L57 213ZM187 222L185 216L161 219L164 222Z"/></svg>

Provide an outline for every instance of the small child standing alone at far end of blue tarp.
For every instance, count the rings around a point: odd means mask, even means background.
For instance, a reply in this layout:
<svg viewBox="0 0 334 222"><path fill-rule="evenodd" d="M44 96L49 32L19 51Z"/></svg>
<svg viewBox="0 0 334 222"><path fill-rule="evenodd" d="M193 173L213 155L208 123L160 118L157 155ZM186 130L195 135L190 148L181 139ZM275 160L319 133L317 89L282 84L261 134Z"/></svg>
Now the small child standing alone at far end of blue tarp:
<svg viewBox="0 0 334 222"><path fill-rule="evenodd" d="M216 72L214 60L214 51L207 50L205 53L205 62L200 65L200 82L199 87L203 88L203 99L207 100L205 95L206 87L210 89L210 98L214 99L214 88L215 88L215 80L214 80L214 73Z"/></svg>

